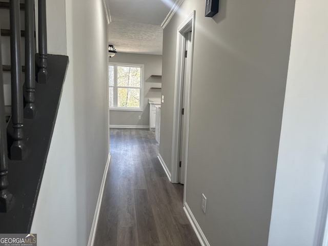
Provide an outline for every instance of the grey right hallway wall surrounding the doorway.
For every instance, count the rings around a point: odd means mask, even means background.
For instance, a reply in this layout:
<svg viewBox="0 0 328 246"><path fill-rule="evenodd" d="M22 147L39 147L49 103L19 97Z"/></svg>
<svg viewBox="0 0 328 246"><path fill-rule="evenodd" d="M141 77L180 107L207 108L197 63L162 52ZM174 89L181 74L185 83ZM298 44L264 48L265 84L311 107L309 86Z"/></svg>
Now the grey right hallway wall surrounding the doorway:
<svg viewBox="0 0 328 246"><path fill-rule="evenodd" d="M211 245L267 245L293 0L185 0L163 31L161 141L171 166L176 31L196 10L187 203ZM201 193L207 212L201 211Z"/></svg>

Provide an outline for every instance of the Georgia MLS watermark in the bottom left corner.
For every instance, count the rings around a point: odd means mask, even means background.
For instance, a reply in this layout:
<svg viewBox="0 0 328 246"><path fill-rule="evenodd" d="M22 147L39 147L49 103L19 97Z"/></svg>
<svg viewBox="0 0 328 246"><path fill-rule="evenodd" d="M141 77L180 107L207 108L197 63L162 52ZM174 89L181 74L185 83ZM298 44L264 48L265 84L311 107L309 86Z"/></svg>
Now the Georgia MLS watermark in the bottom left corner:
<svg viewBox="0 0 328 246"><path fill-rule="evenodd" d="M36 234L0 234L0 246L36 246Z"/></svg>

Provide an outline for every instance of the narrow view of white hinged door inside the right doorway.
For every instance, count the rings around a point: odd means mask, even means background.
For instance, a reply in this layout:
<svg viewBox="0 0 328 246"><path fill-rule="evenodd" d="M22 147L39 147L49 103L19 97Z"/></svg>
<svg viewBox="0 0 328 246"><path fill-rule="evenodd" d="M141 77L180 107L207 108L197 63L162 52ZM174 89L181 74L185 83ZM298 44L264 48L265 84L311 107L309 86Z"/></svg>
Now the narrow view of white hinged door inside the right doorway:
<svg viewBox="0 0 328 246"><path fill-rule="evenodd" d="M190 70L191 70L191 55L188 55L188 50L191 51L191 32L185 34L186 38L186 51L185 51L185 71L182 83L182 101L181 101L181 127L180 127L180 183L185 183L186 173L186 129L187 129L187 117L186 114L189 112L189 105L187 103L186 93L189 92L190 87Z"/></svg>

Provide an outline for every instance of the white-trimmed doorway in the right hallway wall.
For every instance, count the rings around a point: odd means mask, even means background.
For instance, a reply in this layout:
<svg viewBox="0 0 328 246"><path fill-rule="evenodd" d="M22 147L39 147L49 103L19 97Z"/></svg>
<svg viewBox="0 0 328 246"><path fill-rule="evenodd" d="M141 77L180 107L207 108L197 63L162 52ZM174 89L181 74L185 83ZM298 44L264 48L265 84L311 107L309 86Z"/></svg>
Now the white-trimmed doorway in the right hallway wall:
<svg viewBox="0 0 328 246"><path fill-rule="evenodd" d="M188 138L190 121L190 96L193 66L193 45L195 33L195 11L177 30L176 74L174 90L174 115L172 138L171 182L187 182ZM186 52L187 51L187 52ZM186 57L187 56L187 57ZM181 161L181 162L180 162ZM181 163L181 167L180 167ZM185 201L185 193L183 199Z"/></svg>

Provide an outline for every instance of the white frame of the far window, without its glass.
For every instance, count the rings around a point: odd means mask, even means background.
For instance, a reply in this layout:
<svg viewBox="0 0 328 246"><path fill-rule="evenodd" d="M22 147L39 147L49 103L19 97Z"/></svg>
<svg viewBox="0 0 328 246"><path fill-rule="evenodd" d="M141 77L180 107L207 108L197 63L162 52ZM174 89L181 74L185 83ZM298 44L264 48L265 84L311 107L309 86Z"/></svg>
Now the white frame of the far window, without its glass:
<svg viewBox="0 0 328 246"><path fill-rule="evenodd" d="M115 105L115 99L116 99L116 104L117 104L117 89L118 88L135 88L135 89L140 89L140 94L139 94L139 108L128 108L128 107L110 107L109 110L113 111L139 111L142 112L144 111L144 64L133 64L133 63L108 63L108 73L109 73L109 66L114 66L114 86L109 85L109 78L108 78L108 91L110 88L113 88L113 101ZM115 66L116 66L116 74L115 74ZM134 68L140 68L140 87L126 87L126 86L117 86L117 67L122 66L122 67L134 67ZM109 93L110 97L110 93ZM110 103L110 98L108 101L108 105Z"/></svg>

